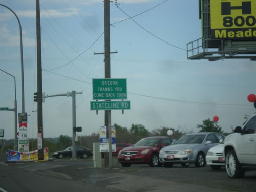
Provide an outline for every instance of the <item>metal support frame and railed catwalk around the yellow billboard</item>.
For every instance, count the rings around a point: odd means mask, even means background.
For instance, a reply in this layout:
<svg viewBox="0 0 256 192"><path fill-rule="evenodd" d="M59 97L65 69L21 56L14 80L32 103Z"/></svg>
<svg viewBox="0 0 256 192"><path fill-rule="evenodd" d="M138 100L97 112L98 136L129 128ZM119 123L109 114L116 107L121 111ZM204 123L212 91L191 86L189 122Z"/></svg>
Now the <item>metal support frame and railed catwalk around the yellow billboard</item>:
<svg viewBox="0 0 256 192"><path fill-rule="evenodd" d="M239 0L238 0L239 1ZM216 39L211 33L210 0L199 0L202 37L187 44L188 59L250 59L256 61L256 41L248 39ZM219 15L220 16L220 15Z"/></svg>

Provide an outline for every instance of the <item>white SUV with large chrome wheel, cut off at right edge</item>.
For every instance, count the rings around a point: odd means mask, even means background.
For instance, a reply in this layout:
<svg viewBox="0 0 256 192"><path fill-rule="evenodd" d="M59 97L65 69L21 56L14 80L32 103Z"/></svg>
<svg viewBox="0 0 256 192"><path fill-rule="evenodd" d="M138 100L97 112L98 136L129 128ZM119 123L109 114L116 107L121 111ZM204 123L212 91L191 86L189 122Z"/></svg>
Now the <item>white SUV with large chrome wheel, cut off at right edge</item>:
<svg viewBox="0 0 256 192"><path fill-rule="evenodd" d="M227 175L231 178L244 176L246 169L256 169L256 114L224 141L224 158Z"/></svg>

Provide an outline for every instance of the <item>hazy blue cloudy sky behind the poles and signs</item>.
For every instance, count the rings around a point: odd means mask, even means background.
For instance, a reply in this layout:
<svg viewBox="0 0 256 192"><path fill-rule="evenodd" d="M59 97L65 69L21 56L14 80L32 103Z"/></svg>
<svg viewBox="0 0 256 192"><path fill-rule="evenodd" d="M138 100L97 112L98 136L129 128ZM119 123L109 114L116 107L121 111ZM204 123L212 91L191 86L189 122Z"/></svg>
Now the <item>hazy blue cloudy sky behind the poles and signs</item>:
<svg viewBox="0 0 256 192"><path fill-rule="evenodd" d="M36 5L34 0L0 0L20 19L23 35L25 112L28 137L37 135ZM76 95L77 135L104 125L104 111L90 110L92 79L104 78L102 0L41 0L42 88L47 95ZM148 130L163 126L197 132L197 124L219 116L225 132L242 125L255 108L255 61L188 60L186 44L201 37L198 0L117 0L110 5L111 78L127 79L131 110L112 111L112 124ZM132 17L132 19L129 19ZM14 75L22 112L17 19L0 6L0 69ZM0 71L0 107L14 107L14 80ZM45 99L44 137L72 136L72 98ZM14 138L14 112L0 111L4 139ZM118 140L118 138L117 138Z"/></svg>

